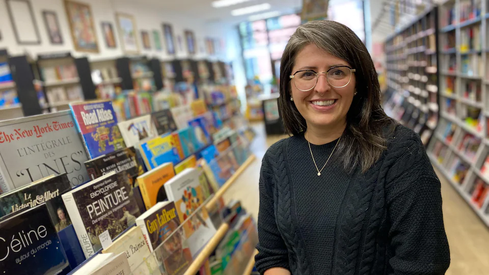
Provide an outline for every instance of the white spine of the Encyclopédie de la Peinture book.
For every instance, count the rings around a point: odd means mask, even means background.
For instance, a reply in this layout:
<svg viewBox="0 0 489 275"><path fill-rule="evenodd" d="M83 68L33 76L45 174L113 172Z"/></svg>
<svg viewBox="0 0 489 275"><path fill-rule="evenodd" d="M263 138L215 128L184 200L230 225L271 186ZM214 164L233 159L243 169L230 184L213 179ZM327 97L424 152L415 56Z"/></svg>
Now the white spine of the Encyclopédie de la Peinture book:
<svg viewBox="0 0 489 275"><path fill-rule="evenodd" d="M88 235L87 229L83 224L82 216L78 211L78 207L76 207L76 202L73 198L73 194L67 193L62 195L61 198L65 203L66 211L70 215L71 223L73 224L73 228L75 229L76 236L78 237L78 241L82 246L83 254L85 254L85 258L88 259L95 254L95 250L93 249L92 242L90 241L90 236Z"/></svg>

